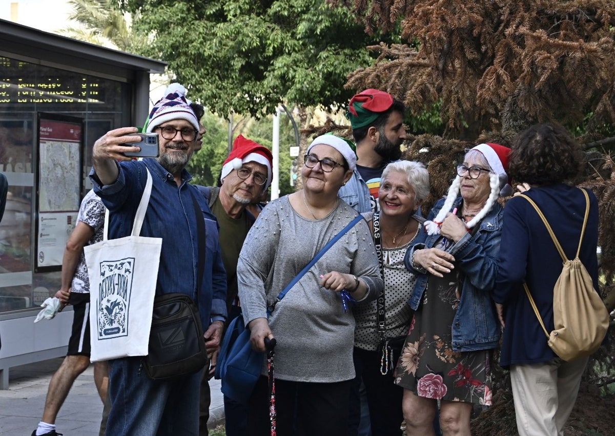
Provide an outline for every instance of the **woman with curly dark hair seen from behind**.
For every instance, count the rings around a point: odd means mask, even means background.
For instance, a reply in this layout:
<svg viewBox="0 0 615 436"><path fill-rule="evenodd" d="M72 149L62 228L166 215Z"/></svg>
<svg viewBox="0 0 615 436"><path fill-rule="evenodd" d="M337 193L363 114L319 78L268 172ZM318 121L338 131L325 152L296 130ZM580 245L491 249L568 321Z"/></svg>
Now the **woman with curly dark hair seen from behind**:
<svg viewBox="0 0 615 436"><path fill-rule="evenodd" d="M542 210L569 259L575 257L587 207L584 193L570 183L582 166L581 147L560 125L533 125L512 144L510 175L523 182L517 188ZM579 259L598 289L598 202L587 194L590 213ZM523 288L527 283L545 327L554 330L561 256L526 199L507 202L504 224L493 298L504 325L500 365L510 369L517 430L522 436L563 435L587 358L566 362L555 355Z"/></svg>

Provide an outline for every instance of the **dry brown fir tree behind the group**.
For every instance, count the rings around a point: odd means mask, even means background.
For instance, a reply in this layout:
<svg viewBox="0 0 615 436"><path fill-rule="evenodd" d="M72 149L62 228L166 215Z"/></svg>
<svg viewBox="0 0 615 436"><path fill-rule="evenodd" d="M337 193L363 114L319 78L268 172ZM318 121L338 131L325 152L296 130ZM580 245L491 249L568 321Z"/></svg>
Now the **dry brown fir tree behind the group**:
<svg viewBox="0 0 615 436"><path fill-rule="evenodd" d="M537 122L558 122L576 135L588 152L577 184L592 189L600 208L600 291L615 309L615 2L328 1L347 7L368 33L400 31L405 41L367 47L378 58L354 71L347 88L386 90L413 116L442 108L443 135L410 132L404 154L424 162L431 174L425 212L445 194L467 146L487 140L510 145ZM330 131L351 138L349 126L332 121L304 133ZM588 365L567 434L613 434L605 422L615 419L615 400L596 400L599 389L615 383L613 330ZM475 419L475 434L516 434L506 377L500 384L505 389Z"/></svg>

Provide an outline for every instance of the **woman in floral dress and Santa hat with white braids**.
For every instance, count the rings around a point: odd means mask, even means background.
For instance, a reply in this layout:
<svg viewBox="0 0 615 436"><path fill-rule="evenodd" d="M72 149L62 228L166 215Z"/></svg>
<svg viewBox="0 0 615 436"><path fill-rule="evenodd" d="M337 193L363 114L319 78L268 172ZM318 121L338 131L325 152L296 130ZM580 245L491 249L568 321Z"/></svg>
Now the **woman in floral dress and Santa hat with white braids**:
<svg viewBox="0 0 615 436"><path fill-rule="evenodd" d="M491 356L501 333L491 291L502 229L498 197L512 192L509 153L493 143L467 151L404 258L418 276L410 297L415 318L395 369L408 436L434 434L437 400L445 435L469 436L473 405L491 405Z"/></svg>

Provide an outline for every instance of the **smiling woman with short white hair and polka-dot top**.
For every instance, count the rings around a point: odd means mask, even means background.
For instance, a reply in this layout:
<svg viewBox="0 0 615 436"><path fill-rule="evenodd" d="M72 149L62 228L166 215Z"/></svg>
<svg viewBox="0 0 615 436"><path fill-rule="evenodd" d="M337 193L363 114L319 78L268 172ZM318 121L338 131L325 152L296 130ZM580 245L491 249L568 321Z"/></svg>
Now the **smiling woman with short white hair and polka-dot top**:
<svg viewBox="0 0 615 436"><path fill-rule="evenodd" d="M384 291L378 301L357 304L354 365L367 390L372 436L401 435L403 389L393 383L397 362L414 311L408 305L416 275L403 264L424 218L419 207L429 194L429 173L419 162L397 161L384 168L379 212L363 213L370 225ZM382 309L379 311L378 309ZM359 398L355 408L359 408Z"/></svg>

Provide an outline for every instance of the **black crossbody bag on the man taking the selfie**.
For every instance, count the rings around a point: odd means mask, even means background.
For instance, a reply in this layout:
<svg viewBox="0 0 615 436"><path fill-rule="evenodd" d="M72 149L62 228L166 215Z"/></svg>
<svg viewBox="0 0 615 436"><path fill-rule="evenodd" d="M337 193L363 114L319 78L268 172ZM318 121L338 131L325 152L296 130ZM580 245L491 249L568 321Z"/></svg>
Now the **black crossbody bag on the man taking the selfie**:
<svg viewBox="0 0 615 436"><path fill-rule="evenodd" d="M196 298L183 293L168 293L154 298L148 355L143 369L151 379L165 379L196 373L208 362L199 315L199 291L205 266L205 221L192 192L197 222L199 259Z"/></svg>

